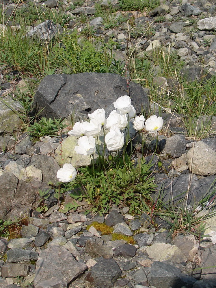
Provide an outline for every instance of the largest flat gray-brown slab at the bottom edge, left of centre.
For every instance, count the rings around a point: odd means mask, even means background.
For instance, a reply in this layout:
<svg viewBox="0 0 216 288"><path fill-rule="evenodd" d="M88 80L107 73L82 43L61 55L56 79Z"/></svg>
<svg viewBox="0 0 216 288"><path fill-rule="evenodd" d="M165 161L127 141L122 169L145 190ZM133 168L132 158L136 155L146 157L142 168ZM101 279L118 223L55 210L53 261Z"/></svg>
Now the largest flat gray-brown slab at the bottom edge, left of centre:
<svg viewBox="0 0 216 288"><path fill-rule="evenodd" d="M38 257L34 287L68 287L86 268L85 264L78 263L64 247L49 247L41 251Z"/></svg>

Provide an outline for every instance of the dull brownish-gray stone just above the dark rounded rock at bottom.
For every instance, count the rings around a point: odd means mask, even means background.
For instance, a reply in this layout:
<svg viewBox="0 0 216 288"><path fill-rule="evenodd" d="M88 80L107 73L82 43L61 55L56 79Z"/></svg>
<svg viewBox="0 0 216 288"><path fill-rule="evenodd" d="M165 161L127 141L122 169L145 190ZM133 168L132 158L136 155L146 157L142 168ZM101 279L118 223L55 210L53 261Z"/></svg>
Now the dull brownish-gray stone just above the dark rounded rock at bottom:
<svg viewBox="0 0 216 288"><path fill-rule="evenodd" d="M99 245L95 239L86 241L85 251L92 257L102 256L105 259L113 257L113 249L110 246Z"/></svg>

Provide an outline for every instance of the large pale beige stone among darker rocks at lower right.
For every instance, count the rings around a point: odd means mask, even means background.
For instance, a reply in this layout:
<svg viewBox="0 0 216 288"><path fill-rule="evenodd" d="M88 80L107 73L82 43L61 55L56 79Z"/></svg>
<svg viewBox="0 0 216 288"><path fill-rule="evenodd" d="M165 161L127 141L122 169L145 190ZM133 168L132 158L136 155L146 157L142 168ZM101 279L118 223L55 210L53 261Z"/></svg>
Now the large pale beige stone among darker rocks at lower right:
<svg viewBox="0 0 216 288"><path fill-rule="evenodd" d="M187 258L176 245L154 243L146 248L146 252L155 261L171 260L173 263L187 262Z"/></svg>

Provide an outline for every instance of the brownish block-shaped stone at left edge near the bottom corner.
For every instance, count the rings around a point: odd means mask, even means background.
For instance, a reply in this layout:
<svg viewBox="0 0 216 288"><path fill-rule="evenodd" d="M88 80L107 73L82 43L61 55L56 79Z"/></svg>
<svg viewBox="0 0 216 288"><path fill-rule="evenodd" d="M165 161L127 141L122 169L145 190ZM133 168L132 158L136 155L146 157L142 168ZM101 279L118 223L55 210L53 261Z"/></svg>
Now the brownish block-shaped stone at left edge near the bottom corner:
<svg viewBox="0 0 216 288"><path fill-rule="evenodd" d="M5 263L1 267L1 276L6 277L17 277L23 276L26 277L29 274L30 265L24 263Z"/></svg>

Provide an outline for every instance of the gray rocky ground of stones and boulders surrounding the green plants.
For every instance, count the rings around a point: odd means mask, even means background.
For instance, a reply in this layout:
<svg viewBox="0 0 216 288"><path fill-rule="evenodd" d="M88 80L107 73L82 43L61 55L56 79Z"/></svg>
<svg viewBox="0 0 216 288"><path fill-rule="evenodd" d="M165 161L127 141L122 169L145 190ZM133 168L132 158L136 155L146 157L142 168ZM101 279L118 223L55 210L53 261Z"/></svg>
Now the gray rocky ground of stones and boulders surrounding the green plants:
<svg viewBox="0 0 216 288"><path fill-rule="evenodd" d="M118 1L111 2L113 5L118 5ZM14 3L4 0L3 5L5 13L11 13ZM23 3L23 5L27 4ZM58 3L55 0L48 0L45 5L53 8L57 7ZM68 6L68 3L65 1L62 5ZM108 4L103 1L101 5ZM94 1L85 1L82 7L68 10L67 14L79 15L82 11L85 11L87 17L94 16ZM136 53L140 56L143 50L151 51L155 47L167 46L175 49L184 62L182 73L187 81L209 79L216 72L214 32L216 19L210 18L215 15L215 3L205 0L165 1L149 14L132 11L131 45L136 45ZM116 51L115 58L122 61L126 61L128 56L127 35L128 25L132 25L132 22L130 23L122 23L118 29L107 29L100 17L91 18L90 21L96 35L112 37L113 41L119 43L120 49ZM52 26L49 19L44 27L45 30L47 27L49 29L52 27L50 31L53 35L56 33L56 27ZM68 29L77 28L81 31L85 27L86 24L76 20L68 20L67 23ZM28 36L35 31L34 27ZM149 33L142 37L144 31ZM49 37L52 33L49 33ZM173 79L157 77L157 69L153 70L154 81L158 83L160 90L176 89ZM25 87L26 80L18 79L21 80L18 84L17 81L13 81L15 71L12 71L11 78L5 77L5 73L5 67L2 66L1 96L12 93L17 86ZM89 82L86 82L86 77ZM51 117L68 117L71 103L74 104L76 97L68 98L65 106L62 105L62 101L59 101L59 104L53 100L57 93L65 99L67 89L73 90L71 94L76 96L79 83L85 83L83 90L79 90L79 94L84 95L83 99L81 103L76 103L80 105L76 114L77 119L85 119L89 109L94 111L98 107L106 106L108 113L113 101L127 94L125 91L130 93L137 113L141 104L148 110L150 105L148 89L143 89L139 84L128 85L123 77L115 76L115 80L113 77L111 74L101 76L90 73L87 76L80 74L76 79L67 81L65 76L47 76L38 87L35 95L36 103L39 107L45 103L46 115L50 113ZM103 84L98 88L96 85L100 83L99 81ZM112 84L117 81L121 88L115 90L116 86ZM71 83L75 84L71 85ZM100 90L100 86L103 86L103 91ZM97 91L97 101L92 101L91 91ZM106 103L101 100L101 95L105 92L107 92L105 98L113 95L113 98L109 98ZM141 102L137 98L137 94L140 93L142 93ZM9 106L12 109L8 109ZM22 226L21 238L8 240L2 237L0 239L2 255L0 287L216 287L216 218L214 215L209 219L203 218L207 228L205 234L210 236L203 238L202 231L200 230L200 233L198 231L200 224L195 231L196 235L192 233L173 235L169 233L172 229L168 223L170 219L166 222L159 217L154 217L155 225L152 225L151 215L145 213L130 215L129 207L119 208L113 205L109 213L103 216L92 213L84 215L84 211L62 213L58 211L57 199L53 196L54 190L50 190L51 195L45 202L49 210L46 213L37 212L36 208L40 204L39 189L48 190L48 182L57 181L56 172L60 167L59 164L63 164L62 158L65 162L74 159L75 156L71 153L77 139L63 134L62 137L42 137L40 141L34 143L27 134L22 134L18 135L17 141L12 136L12 132L20 129L21 122L17 113L11 111L19 111L21 105L5 96L4 102L1 101L0 109L2 168L0 218L6 220L24 214L29 216L28 225L25 223ZM157 109L154 110L153 107L152 109L152 112L158 112ZM187 191L188 187L190 190L187 204L191 206L194 204L194 198L197 203L206 196L206 193L212 193L213 198L208 199L208 203L205 202L205 209L194 212L195 217L202 217L202 215L204 217L209 204L214 199L216 118L211 118L211 137L206 137L202 141L193 141L185 139L182 115L162 113L161 116L164 119L164 129L159 136L159 155L163 162L163 169L155 173L155 183L158 190L163 187L165 204L170 201L177 204L177 200L185 197L182 193ZM149 147L154 150L154 141L149 140ZM151 155L146 157L147 162L151 157ZM191 163L192 158L193 163ZM157 156L153 157L154 164L157 165L158 160ZM88 158L79 158L75 160L75 164L86 165L88 161ZM193 175L191 176L189 172ZM157 202L158 194L152 194L152 198ZM65 203L69 202L71 198L68 193ZM94 224L90 226L93 221ZM106 226L103 226L103 223ZM109 229L112 227L113 230L107 232L107 226ZM115 238L116 234L122 235L120 240Z"/></svg>

